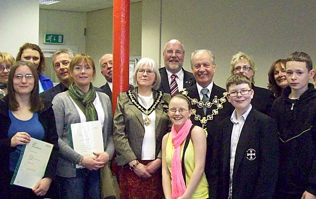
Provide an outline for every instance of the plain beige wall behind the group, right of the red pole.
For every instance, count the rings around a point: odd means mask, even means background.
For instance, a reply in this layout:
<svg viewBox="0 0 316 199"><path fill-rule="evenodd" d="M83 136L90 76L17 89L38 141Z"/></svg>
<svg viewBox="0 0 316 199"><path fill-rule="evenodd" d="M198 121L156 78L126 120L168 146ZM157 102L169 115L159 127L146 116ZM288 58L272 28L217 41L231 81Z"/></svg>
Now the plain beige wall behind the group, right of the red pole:
<svg viewBox="0 0 316 199"><path fill-rule="evenodd" d="M142 55L156 58L158 2L142 3L142 36L146 36ZM214 82L222 87L230 76L232 56L244 51L253 56L258 68L256 85L267 87L268 70L276 59L302 50L316 62L315 10L315 0L162 0L160 45L163 48L167 40L181 40L186 49L184 68L189 71L192 51L212 50L218 66ZM155 48L149 45L153 40Z"/></svg>

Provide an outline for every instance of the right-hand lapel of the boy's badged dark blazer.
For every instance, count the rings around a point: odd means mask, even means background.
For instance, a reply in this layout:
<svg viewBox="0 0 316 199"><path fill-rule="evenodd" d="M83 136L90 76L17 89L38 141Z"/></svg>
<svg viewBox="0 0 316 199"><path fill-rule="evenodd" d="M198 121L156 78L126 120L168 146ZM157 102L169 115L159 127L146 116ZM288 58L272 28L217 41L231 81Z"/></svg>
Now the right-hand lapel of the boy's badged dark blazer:
<svg viewBox="0 0 316 199"><path fill-rule="evenodd" d="M235 155L233 178L235 177L238 171L240 162L243 159L244 154L246 153L247 145L249 142L249 135L253 132L254 120L255 120L254 109L252 108L250 113L247 116L247 119L245 120L245 123L243 124L242 130L238 139L236 155Z"/></svg>

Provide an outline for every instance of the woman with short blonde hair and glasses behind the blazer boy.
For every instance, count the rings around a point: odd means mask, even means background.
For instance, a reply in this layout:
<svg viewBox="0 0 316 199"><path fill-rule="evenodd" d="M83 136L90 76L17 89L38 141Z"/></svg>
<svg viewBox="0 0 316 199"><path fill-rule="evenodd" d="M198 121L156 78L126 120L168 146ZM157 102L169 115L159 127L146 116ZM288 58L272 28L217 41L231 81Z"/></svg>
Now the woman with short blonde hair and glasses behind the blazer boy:
<svg viewBox="0 0 316 199"><path fill-rule="evenodd" d="M255 63L252 57L244 52L238 52L232 57L231 61L231 73L242 74L247 76L251 80L252 89L254 90L254 96L251 101L252 106L261 113L266 115L270 114L272 104L275 100L273 92L266 88L255 86Z"/></svg>

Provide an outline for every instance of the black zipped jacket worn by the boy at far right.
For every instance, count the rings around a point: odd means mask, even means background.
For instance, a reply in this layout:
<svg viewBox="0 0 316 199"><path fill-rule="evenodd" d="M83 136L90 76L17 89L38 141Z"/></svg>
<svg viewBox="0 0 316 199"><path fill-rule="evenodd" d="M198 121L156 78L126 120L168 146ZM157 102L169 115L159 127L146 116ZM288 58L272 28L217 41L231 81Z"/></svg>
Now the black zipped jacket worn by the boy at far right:
<svg viewBox="0 0 316 199"><path fill-rule="evenodd" d="M316 196L316 90L308 84L299 99L289 99L287 86L273 104L280 145L278 193Z"/></svg>

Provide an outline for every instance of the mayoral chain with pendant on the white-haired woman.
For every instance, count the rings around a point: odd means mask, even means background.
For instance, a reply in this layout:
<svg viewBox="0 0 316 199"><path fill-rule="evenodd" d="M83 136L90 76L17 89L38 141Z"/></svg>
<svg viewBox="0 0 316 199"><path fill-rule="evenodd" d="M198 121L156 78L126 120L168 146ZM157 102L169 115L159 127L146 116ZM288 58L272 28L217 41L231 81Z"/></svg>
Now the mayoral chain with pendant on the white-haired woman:
<svg viewBox="0 0 316 199"><path fill-rule="evenodd" d="M143 118L144 125L148 126L149 124L151 124L152 120L148 117L148 115L150 115L156 109L157 105L160 103L161 98L163 96L163 92L158 91L158 97L149 109L145 109L142 105L140 105L130 90L126 93L130 101L137 107L137 109L140 110L143 114L145 114L145 118Z"/></svg>

